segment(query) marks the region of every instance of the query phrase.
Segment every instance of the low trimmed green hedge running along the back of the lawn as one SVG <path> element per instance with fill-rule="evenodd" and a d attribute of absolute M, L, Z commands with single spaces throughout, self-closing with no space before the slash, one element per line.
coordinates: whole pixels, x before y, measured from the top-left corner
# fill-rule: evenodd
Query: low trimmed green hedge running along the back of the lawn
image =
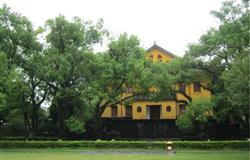
<path fill-rule="evenodd" d="M 164 148 L 164 141 L 1 141 L 2 148 Z M 177 149 L 249 149 L 249 141 L 173 141 Z"/>

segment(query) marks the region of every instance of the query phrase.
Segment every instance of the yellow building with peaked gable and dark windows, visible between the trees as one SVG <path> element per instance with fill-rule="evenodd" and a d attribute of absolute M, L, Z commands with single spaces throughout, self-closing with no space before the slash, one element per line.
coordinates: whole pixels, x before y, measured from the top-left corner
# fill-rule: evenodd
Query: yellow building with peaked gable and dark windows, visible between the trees
<path fill-rule="evenodd" d="M 162 61 L 168 63 L 176 56 L 162 47 L 154 44 L 146 51 L 146 58 L 152 59 L 153 62 Z M 210 93 L 204 90 L 198 82 L 190 85 L 177 84 L 177 89 L 184 91 L 192 99 L 200 97 L 210 97 Z M 131 94 L 133 88 L 127 88 L 126 94 Z M 182 94 L 177 94 L 178 100 L 185 100 Z M 177 103 L 175 100 L 164 100 L 158 102 L 147 101 L 145 97 L 137 97 L 137 100 L 131 106 L 118 105 L 108 107 L 104 111 L 102 118 L 130 118 L 133 120 L 175 120 L 186 106 L 184 103 Z"/>

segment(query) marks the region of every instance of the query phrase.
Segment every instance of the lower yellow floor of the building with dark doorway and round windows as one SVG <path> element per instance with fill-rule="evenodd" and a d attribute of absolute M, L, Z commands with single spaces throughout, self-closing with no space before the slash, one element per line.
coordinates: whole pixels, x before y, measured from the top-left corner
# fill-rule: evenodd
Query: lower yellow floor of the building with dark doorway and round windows
<path fill-rule="evenodd" d="M 127 118 L 133 120 L 175 120 L 185 111 L 185 104 L 172 100 L 149 102 L 136 101 L 131 105 L 107 107 L 102 118 Z"/>

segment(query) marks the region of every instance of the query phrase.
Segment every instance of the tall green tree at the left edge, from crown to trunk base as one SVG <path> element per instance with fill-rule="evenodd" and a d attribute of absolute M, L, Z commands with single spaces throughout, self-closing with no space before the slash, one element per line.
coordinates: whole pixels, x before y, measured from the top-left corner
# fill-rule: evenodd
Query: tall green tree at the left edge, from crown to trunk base
<path fill-rule="evenodd" d="M 19 107 L 20 113 L 23 113 L 23 117 L 26 117 L 25 127 L 27 133 L 28 118 L 22 107 L 25 107 L 26 103 L 31 103 L 31 128 L 33 135 L 35 135 L 38 128 L 38 112 L 47 95 L 47 90 L 44 87 L 45 83 L 38 77 L 38 73 L 43 66 L 41 63 L 37 63 L 39 62 L 38 56 L 41 54 L 42 47 L 37 41 L 38 32 L 34 31 L 31 22 L 26 17 L 11 11 L 6 5 L 0 8 L 0 22 L 0 51 L 7 57 L 6 71 L 8 75 L 14 75 L 5 76 L 8 80 L 3 85 L 4 91 L 8 93 L 7 96 L 10 96 L 7 97 L 8 99 L 15 99 L 15 96 L 20 98 L 13 102 L 8 101 L 10 103 L 7 103 L 6 107 L 7 110 L 13 108 L 11 106 Z M 20 88 L 26 89 L 24 91 Z M 28 91 L 26 91 L 27 89 Z M 21 99 L 23 104 L 19 101 Z M 16 104 L 13 104 L 15 102 Z M 11 112 L 11 110 L 9 111 Z"/>

